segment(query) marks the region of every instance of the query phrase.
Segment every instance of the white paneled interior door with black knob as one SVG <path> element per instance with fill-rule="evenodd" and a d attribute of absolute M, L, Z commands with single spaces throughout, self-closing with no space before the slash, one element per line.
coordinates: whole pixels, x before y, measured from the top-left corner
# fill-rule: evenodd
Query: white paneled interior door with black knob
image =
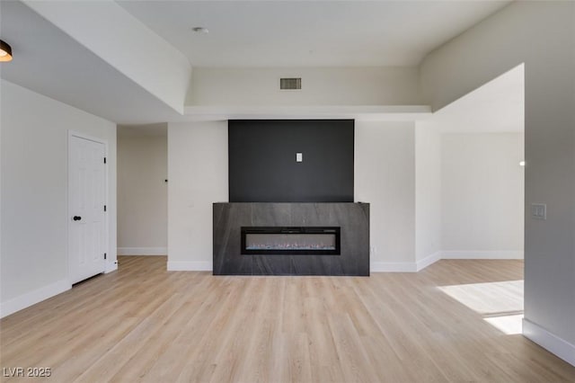
<path fill-rule="evenodd" d="M 68 254 L 72 283 L 105 271 L 105 164 L 102 142 L 70 135 Z"/>

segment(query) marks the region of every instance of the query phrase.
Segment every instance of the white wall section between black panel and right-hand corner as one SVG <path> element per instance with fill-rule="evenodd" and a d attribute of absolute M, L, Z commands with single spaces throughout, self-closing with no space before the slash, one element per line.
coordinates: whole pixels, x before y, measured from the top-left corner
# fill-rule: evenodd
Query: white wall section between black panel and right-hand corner
<path fill-rule="evenodd" d="M 371 270 L 415 271 L 413 122 L 356 121 L 355 200 L 370 203 Z"/>

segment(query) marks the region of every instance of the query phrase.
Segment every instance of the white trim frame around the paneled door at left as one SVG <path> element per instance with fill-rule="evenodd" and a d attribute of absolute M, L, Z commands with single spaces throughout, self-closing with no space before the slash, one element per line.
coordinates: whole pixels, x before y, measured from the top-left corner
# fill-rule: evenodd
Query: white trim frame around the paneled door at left
<path fill-rule="evenodd" d="M 72 138 L 83 138 L 83 139 L 87 139 L 89 141 L 93 141 L 93 142 L 97 142 L 99 144 L 102 144 L 104 146 L 104 156 L 106 157 L 106 159 L 108 159 L 108 140 L 104 139 L 104 138 L 99 138 L 99 137 L 93 137 L 90 135 L 87 135 L 83 132 L 77 131 L 77 130 L 72 130 L 72 129 L 68 129 L 68 134 L 67 134 L 67 142 L 66 142 L 66 262 L 67 262 L 67 269 L 68 269 L 68 281 L 70 281 L 70 284 L 73 280 L 73 275 L 72 275 L 72 254 L 70 252 L 70 231 L 71 231 L 71 226 L 72 226 L 72 220 L 70 219 L 70 217 L 72 217 L 72 211 L 70 211 L 70 174 L 71 172 L 71 167 L 72 167 L 72 161 L 71 161 L 71 156 L 72 156 L 72 151 L 70 150 L 71 147 L 71 143 L 72 143 Z M 108 161 L 106 161 L 108 162 Z M 109 180 L 108 180 L 108 166 L 104 165 L 104 205 L 106 205 L 106 207 L 109 207 L 109 203 L 108 201 L 110 200 L 110 190 L 108 187 L 109 184 Z M 106 261 L 104 263 L 104 273 L 106 272 L 111 272 L 112 270 L 110 269 L 110 258 L 111 258 L 111 252 L 110 252 L 110 215 L 109 215 L 110 209 L 107 209 L 105 215 L 104 215 L 104 248 L 106 249 L 106 253 L 108 254 L 108 256 L 106 257 Z M 113 269 L 115 270 L 115 269 Z"/>

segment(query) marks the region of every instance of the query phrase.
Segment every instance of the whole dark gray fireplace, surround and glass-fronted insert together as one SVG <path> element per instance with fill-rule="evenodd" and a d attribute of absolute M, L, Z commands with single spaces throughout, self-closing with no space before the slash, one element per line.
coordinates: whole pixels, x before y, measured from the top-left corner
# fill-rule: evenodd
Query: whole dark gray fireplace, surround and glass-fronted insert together
<path fill-rule="evenodd" d="M 213 212 L 214 275 L 369 275 L 368 203 L 217 202 Z"/>

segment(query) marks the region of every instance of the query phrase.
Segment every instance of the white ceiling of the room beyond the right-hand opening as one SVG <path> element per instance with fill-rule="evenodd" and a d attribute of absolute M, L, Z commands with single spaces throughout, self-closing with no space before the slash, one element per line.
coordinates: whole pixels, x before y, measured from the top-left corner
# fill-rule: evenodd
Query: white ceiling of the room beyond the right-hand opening
<path fill-rule="evenodd" d="M 524 66 L 482 85 L 430 119 L 444 133 L 521 132 L 525 129 Z"/>

